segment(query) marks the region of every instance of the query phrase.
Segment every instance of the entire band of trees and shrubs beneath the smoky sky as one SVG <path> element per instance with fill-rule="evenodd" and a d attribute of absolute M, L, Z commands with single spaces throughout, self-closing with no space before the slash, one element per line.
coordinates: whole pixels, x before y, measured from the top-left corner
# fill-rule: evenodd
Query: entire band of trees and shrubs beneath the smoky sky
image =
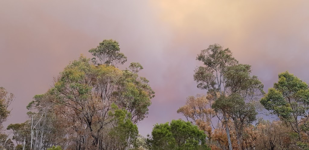
<path fill-rule="evenodd" d="M 177 110 L 186 121 L 157 123 L 144 138 L 137 124 L 147 117 L 155 92 L 139 76 L 143 66 L 132 62 L 119 69 L 127 57 L 112 39 L 89 52 L 92 59 L 82 55 L 70 62 L 46 93 L 33 97 L 28 120 L 8 125 L 8 134 L 2 124 L 14 95 L 0 87 L 0 149 L 309 149 L 309 88 L 288 71 L 265 94 L 250 65 L 239 64 L 229 48 L 210 45 L 197 55 L 203 66 L 193 76 L 207 92 L 189 96 Z M 258 118 L 261 105 L 279 119 Z"/>

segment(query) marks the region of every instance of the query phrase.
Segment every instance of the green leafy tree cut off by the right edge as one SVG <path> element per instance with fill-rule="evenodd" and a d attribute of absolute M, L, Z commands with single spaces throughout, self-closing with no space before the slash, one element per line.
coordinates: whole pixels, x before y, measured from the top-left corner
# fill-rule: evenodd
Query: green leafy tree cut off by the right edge
<path fill-rule="evenodd" d="M 302 141 L 300 125 L 308 120 L 308 85 L 288 71 L 279 73 L 278 79 L 260 102 L 266 110 L 290 123 Z"/>

